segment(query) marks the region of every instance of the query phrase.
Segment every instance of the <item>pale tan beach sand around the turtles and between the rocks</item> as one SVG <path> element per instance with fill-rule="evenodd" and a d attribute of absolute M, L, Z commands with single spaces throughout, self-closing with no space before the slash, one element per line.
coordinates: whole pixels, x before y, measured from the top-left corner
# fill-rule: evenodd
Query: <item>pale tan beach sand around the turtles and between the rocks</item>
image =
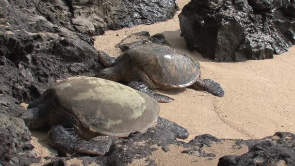
<path fill-rule="evenodd" d="M 189 1 L 178 0 L 180 8 Z M 148 31 L 151 35 L 163 33 L 172 47 L 196 58 L 201 64 L 202 77 L 220 83 L 226 92 L 224 97 L 189 88 L 158 91 L 175 99 L 170 103 L 160 103 L 160 116 L 185 127 L 190 133 L 187 140 L 205 133 L 236 139 L 261 139 L 276 132 L 295 133 L 295 47 L 275 55 L 274 59 L 214 63 L 202 58 L 197 51 L 187 50 L 183 37 L 180 37 L 178 14 L 180 11 L 166 22 L 108 31 L 96 37 L 95 48 L 118 56 L 120 50 L 114 47 L 117 43 L 131 33 Z M 167 153 L 155 151 L 150 158 L 159 166 L 183 163 L 216 166 L 222 155 L 240 155 L 247 151 L 245 147 L 232 149 L 230 141 L 224 144 L 225 147 L 216 146 L 209 151 L 218 157 L 213 161 L 204 159 L 207 163 L 180 153 L 178 147 L 170 147 L 171 151 Z M 147 163 L 142 159 L 131 165 Z"/>

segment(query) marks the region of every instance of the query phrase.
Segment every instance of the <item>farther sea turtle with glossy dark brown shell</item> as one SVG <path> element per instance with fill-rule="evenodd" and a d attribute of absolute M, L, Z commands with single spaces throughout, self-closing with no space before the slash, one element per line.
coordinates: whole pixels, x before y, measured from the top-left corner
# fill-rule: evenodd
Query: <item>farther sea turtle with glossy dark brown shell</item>
<path fill-rule="evenodd" d="M 206 90 L 215 96 L 225 94 L 219 83 L 201 79 L 199 62 L 169 46 L 142 44 L 126 50 L 117 58 L 99 50 L 98 60 L 107 67 L 98 72 L 98 78 L 128 83 L 158 102 L 170 102 L 174 99 L 157 94 L 151 89 L 189 86 Z"/>

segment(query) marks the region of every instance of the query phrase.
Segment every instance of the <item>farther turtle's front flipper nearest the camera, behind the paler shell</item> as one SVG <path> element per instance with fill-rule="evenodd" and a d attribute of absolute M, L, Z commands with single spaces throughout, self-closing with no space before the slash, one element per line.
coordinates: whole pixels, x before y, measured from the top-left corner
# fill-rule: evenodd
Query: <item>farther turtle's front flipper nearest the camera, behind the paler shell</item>
<path fill-rule="evenodd" d="M 148 95 L 149 97 L 157 100 L 158 102 L 171 102 L 174 100 L 173 98 L 152 91 L 144 82 L 132 81 L 128 83 L 128 86 Z"/>

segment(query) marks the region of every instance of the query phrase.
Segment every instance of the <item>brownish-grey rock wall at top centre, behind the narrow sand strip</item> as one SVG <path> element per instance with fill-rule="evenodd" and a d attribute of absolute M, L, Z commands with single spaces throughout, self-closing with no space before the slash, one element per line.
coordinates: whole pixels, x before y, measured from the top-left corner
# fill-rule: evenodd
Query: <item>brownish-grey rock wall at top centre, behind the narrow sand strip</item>
<path fill-rule="evenodd" d="M 66 0 L 72 23 L 81 33 L 97 35 L 139 24 L 152 24 L 174 17 L 176 0 Z"/>

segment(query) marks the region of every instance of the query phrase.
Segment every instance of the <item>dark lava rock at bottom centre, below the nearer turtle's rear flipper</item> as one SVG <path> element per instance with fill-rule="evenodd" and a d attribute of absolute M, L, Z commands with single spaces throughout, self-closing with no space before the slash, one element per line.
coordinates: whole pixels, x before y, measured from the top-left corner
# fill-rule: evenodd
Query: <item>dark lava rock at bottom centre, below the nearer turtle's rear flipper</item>
<path fill-rule="evenodd" d="M 127 139 L 120 139 L 110 147 L 101 158 L 100 165 L 126 166 L 135 159 L 141 159 L 151 155 L 152 151 L 170 144 L 179 144 L 173 133 L 168 130 L 149 128 L 146 133 L 131 133 Z"/>

